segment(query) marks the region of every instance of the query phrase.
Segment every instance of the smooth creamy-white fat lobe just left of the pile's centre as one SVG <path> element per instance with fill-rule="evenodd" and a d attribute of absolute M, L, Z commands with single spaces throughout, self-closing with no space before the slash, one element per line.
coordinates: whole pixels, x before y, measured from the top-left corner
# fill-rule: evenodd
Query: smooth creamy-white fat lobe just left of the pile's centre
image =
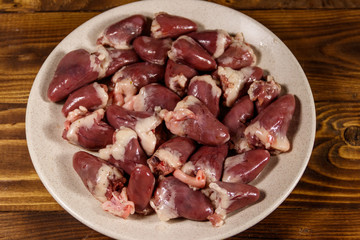
<path fill-rule="evenodd" d="M 156 135 L 153 132 L 162 120 L 157 115 L 139 119 L 135 125 L 135 132 L 140 138 L 140 144 L 146 154 L 151 156 L 155 151 Z"/>

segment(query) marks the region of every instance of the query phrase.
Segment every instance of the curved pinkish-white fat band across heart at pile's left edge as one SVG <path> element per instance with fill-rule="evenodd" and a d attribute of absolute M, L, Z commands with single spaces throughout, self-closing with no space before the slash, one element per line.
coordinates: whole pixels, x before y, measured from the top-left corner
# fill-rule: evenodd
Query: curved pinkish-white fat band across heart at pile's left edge
<path fill-rule="evenodd" d="M 100 120 L 104 117 L 104 114 L 105 114 L 104 109 L 98 109 L 95 112 L 71 123 L 71 125 L 66 133 L 67 140 L 73 144 L 77 144 L 79 129 L 80 128 L 91 128 L 95 123 L 100 122 Z"/>

